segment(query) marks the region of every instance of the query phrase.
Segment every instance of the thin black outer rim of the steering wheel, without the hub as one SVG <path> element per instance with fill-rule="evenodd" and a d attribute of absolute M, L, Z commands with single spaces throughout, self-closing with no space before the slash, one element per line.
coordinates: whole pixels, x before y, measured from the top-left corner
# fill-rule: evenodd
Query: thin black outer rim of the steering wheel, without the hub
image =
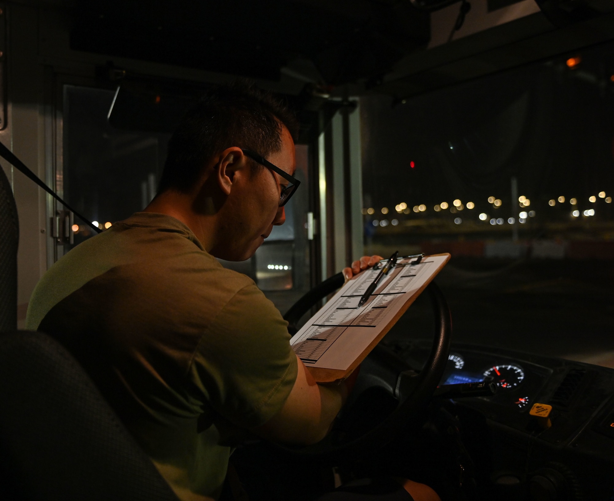
<path fill-rule="evenodd" d="M 284 319 L 288 320 L 290 324 L 289 330 L 290 328 L 293 330 L 291 333 L 297 332 L 295 325 L 309 308 L 341 287 L 343 283 L 343 274 L 338 273 L 301 297 L 284 316 Z M 283 449 L 293 455 L 321 457 L 327 460 L 357 457 L 387 445 L 395 437 L 398 437 L 398 433 L 407 429 L 408 422 L 413 421 L 412 417 L 426 408 L 441 380 L 448 362 L 452 337 L 451 314 L 443 293 L 435 282 L 430 282 L 426 291 L 429 293 L 435 313 L 435 338 L 429 357 L 420 373 L 413 376 L 402 372 L 397 376 L 395 392 L 407 393 L 406 395 L 398 395 L 401 398 L 397 408 L 372 430 L 346 443 L 335 443 L 335 437 L 332 437 L 329 433 L 327 437 L 314 445 L 300 448 L 282 446 Z M 409 379 L 410 384 L 403 384 L 404 379 L 405 381 Z M 403 386 L 405 386 L 404 389 Z"/>

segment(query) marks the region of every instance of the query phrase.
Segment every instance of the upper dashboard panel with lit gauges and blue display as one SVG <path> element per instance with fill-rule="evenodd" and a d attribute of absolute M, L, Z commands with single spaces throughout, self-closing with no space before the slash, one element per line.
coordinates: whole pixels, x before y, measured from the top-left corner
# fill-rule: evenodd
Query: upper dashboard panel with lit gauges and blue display
<path fill-rule="evenodd" d="M 453 346 L 441 384 L 492 381 L 492 397 L 459 399 L 486 419 L 554 446 L 614 460 L 614 370 L 507 350 Z M 552 406 L 550 426 L 529 414 Z"/>

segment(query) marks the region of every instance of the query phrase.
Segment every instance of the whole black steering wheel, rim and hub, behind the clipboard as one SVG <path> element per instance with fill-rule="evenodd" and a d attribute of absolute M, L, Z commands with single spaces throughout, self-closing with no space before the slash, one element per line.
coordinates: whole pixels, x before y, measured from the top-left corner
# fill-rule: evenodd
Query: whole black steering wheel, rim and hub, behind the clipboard
<path fill-rule="evenodd" d="M 343 274 L 338 273 L 301 297 L 284 315 L 289 322 L 289 332 L 296 333 L 295 326 L 303 314 L 343 284 Z M 376 346 L 363 360 L 356 386 L 332 431 L 314 445 L 283 449 L 305 458 L 352 459 L 374 452 L 421 425 L 419 415 L 441 380 L 452 336 L 450 311 L 441 290 L 430 282 L 426 292 L 435 313 L 435 338 L 422 370 L 414 371 L 390 349 Z M 374 398 L 378 409 L 387 411 L 387 415 L 365 422 L 362 417 L 369 404 L 373 410 Z"/>

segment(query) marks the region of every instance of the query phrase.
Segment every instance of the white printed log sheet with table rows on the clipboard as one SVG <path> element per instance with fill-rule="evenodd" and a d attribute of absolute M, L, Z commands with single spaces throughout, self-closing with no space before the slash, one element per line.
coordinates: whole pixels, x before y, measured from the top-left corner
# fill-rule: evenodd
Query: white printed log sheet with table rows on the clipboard
<path fill-rule="evenodd" d="M 416 258 L 399 260 L 360 308 L 360 297 L 379 269 L 357 274 L 292 337 L 292 348 L 308 367 L 346 370 L 394 325 L 400 311 L 405 311 L 448 258 L 449 254 L 426 256 L 420 263 Z"/>

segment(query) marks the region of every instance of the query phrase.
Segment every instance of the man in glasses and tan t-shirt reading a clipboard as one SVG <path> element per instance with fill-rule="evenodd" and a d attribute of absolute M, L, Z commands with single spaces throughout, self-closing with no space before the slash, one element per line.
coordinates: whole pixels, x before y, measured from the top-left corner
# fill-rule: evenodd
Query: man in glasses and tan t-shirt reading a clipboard
<path fill-rule="evenodd" d="M 152 203 L 61 258 L 28 308 L 28 328 L 76 356 L 184 501 L 219 496 L 233 430 L 315 443 L 349 391 L 316 384 L 279 311 L 216 260 L 246 260 L 284 223 L 295 130 L 265 93 L 212 90 L 169 142 Z"/>

